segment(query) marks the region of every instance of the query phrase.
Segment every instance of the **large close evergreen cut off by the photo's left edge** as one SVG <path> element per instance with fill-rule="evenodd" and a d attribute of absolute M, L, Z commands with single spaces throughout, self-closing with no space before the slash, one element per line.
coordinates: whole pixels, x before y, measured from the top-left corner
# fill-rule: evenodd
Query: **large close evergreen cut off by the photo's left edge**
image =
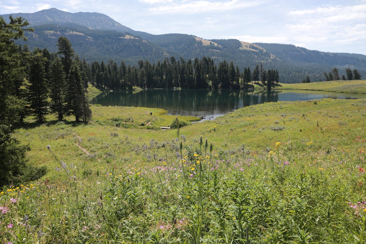
<path fill-rule="evenodd" d="M 34 168 L 27 164 L 26 152 L 29 146 L 22 145 L 11 136 L 11 124 L 24 108 L 18 98 L 11 95 L 15 80 L 24 77 L 25 65 L 22 54 L 14 40 L 26 40 L 24 31 L 29 23 L 21 17 L 0 16 L 0 187 L 17 185 L 22 181 L 37 179 L 45 174 L 45 167 Z"/>

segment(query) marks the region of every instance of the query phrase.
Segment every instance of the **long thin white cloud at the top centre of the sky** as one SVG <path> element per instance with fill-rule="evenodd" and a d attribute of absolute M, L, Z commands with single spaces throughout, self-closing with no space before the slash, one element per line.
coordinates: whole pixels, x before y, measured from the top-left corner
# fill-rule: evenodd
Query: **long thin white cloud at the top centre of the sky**
<path fill-rule="evenodd" d="M 197 14 L 200 12 L 228 11 L 238 8 L 253 7 L 261 4 L 261 1 L 221 1 L 210 2 L 205 0 L 189 1 L 180 4 L 169 4 L 156 8 L 149 8 L 154 14 Z"/>

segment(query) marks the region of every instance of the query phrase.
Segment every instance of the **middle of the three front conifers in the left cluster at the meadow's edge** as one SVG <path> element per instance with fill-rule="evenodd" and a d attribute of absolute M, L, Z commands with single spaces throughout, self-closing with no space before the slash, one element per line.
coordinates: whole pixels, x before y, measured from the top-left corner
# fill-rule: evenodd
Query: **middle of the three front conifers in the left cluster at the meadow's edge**
<path fill-rule="evenodd" d="M 60 58 L 53 60 L 50 71 L 50 109 L 57 114 L 57 119 L 62 121 L 66 112 L 66 74 Z"/>

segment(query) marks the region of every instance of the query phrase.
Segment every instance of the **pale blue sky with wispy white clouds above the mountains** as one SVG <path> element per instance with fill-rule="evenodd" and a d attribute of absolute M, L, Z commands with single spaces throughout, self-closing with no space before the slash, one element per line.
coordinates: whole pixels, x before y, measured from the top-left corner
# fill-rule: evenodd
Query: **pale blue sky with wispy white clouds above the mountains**
<path fill-rule="evenodd" d="M 294 44 L 366 55 L 366 0 L 0 0 L 0 14 L 99 12 L 152 34 Z"/>

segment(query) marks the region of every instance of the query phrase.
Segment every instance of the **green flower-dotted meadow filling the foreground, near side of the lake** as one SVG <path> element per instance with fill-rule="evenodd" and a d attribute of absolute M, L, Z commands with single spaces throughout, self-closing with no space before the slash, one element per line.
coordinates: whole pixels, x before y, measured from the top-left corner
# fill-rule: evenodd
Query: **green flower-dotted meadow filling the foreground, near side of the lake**
<path fill-rule="evenodd" d="M 366 100 L 179 116 L 179 130 L 160 129 L 176 118 L 163 109 L 91 109 L 88 125 L 15 130 L 48 173 L 0 191 L 4 243 L 366 242 Z"/>

